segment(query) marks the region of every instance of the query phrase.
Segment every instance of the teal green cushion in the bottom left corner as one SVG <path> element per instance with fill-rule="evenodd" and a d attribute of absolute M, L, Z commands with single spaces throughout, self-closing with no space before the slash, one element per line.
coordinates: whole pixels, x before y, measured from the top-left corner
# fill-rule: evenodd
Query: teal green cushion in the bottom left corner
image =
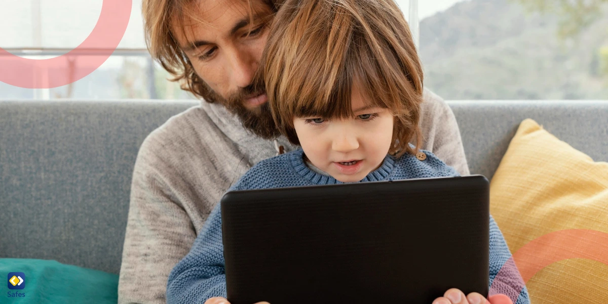
<path fill-rule="evenodd" d="M 23 289 L 9 289 L 9 272 L 23 272 Z M 89 303 L 118 301 L 118 275 L 54 260 L 0 258 L 1 303 Z M 21 297 L 10 297 L 19 292 Z"/>

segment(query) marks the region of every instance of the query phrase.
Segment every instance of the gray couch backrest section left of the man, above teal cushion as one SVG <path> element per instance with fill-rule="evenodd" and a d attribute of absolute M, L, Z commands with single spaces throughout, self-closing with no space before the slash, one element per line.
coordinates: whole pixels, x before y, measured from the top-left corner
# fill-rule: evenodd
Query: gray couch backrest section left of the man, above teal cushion
<path fill-rule="evenodd" d="M 137 150 L 196 104 L 0 102 L 0 257 L 117 274 Z"/>

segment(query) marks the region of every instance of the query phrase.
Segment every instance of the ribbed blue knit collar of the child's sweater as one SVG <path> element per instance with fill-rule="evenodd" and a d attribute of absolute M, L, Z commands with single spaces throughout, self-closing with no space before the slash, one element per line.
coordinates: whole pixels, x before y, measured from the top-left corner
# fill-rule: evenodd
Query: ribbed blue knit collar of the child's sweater
<path fill-rule="evenodd" d="M 306 178 L 306 180 L 311 181 L 313 184 L 343 184 L 342 181 L 336 180 L 336 178 L 332 177 L 331 175 L 322 175 L 311 170 L 308 166 L 306 166 L 303 156 L 304 151 L 302 149 L 294 150 L 289 154 L 289 161 L 294 167 L 295 172 L 297 172 L 303 178 Z M 393 172 L 394 167 L 395 159 L 390 155 L 387 155 L 384 158 L 384 161 L 382 161 L 382 166 L 375 171 L 371 171 L 370 174 L 359 182 L 385 180 Z"/>

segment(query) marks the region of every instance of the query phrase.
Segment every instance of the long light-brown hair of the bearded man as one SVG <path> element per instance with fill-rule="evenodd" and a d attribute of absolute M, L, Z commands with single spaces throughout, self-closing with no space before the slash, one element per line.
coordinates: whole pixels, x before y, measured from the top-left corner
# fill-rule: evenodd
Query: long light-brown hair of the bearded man
<path fill-rule="evenodd" d="M 194 9 L 199 1 L 205 0 L 143 0 L 142 15 L 146 46 L 154 60 L 159 62 L 167 72 L 173 75 L 171 81 L 179 81 L 181 88 L 195 96 L 205 98 L 212 103 L 215 101 L 209 86 L 196 74 L 196 71 L 182 52 L 173 32 L 173 25 L 182 30 L 185 36 L 187 21 L 205 23 Z M 230 0 L 229 0 L 230 1 Z M 252 1 L 260 1 L 268 5 L 274 12 L 283 0 L 232 0 L 244 1 L 249 4 L 250 18 L 254 16 Z"/>

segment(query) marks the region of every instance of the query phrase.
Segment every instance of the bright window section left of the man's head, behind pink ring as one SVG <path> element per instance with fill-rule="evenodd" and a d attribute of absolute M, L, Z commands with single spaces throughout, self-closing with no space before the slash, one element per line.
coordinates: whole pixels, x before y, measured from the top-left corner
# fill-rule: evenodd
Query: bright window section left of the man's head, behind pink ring
<path fill-rule="evenodd" d="M 0 32 L 0 46 L 29 59 L 63 55 L 85 41 L 97 23 L 102 4 L 103 0 L 0 0 L 0 28 L 4 29 Z M 67 61 L 68 58 L 66 66 Z M 71 67 L 78 68 L 78 61 L 72 62 Z M 148 54 L 141 0 L 133 0 L 123 39 L 97 70 L 75 83 L 53 89 L 23 89 L 0 82 L 0 98 L 192 98 L 167 78 L 170 75 Z"/>

